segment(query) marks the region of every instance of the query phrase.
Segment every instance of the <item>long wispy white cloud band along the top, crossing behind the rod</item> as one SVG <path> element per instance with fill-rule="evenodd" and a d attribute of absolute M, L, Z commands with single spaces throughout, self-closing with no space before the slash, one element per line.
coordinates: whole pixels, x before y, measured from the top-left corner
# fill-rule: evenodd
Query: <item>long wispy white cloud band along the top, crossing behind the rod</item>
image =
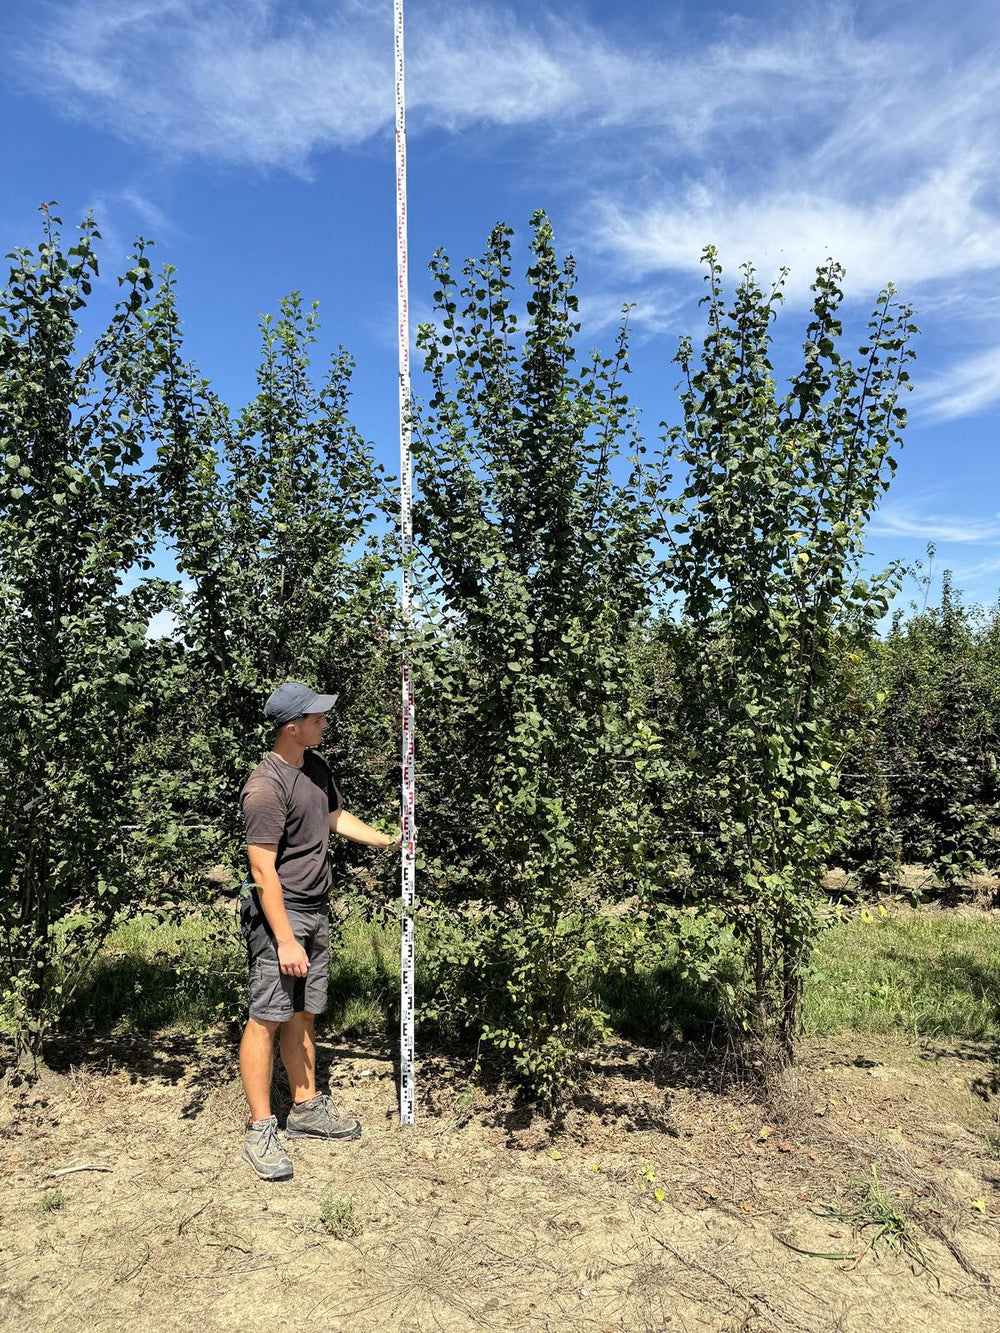
<path fill-rule="evenodd" d="M 771 29 L 731 20 L 715 40 L 627 47 L 565 5 L 428 0 L 412 7 L 407 40 L 417 127 L 548 121 L 572 141 L 621 128 L 657 163 L 724 141 L 739 156 L 749 137 L 780 140 L 804 119 L 829 136 L 888 59 L 836 4 Z M 33 91 L 181 156 L 301 168 L 392 120 L 388 4 L 61 0 L 20 55 Z"/>

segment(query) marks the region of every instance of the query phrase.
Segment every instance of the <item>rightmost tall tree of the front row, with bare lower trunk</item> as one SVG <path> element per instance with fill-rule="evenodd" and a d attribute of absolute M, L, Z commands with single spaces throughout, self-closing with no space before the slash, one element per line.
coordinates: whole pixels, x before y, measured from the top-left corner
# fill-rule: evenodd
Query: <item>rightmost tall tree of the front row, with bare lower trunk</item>
<path fill-rule="evenodd" d="M 896 467 L 915 327 L 888 288 L 859 359 L 844 356 L 831 261 L 781 393 L 771 344 L 783 279 L 767 293 L 747 267 L 727 303 L 711 248 L 705 265 L 708 332 L 700 359 L 689 340 L 677 353 L 683 421 L 665 441 L 683 491 L 664 497 L 663 580 L 692 631 L 677 640 L 692 738 L 673 818 L 696 830 L 679 832 L 688 893 L 732 929 L 745 964 L 735 1032 L 791 1058 L 821 873 L 860 813 L 839 789 L 852 730 L 840 668 L 896 579 L 865 579 L 861 560 Z"/>

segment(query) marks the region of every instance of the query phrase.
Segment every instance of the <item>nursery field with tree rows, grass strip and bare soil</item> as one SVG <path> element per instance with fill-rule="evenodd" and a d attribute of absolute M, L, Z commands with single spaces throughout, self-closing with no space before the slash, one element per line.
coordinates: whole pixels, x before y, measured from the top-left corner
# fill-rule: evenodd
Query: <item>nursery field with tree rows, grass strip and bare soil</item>
<path fill-rule="evenodd" d="M 1000 608 L 933 545 L 871 568 L 907 300 L 859 323 L 831 259 L 777 335 L 784 277 L 709 245 L 639 413 L 543 211 L 439 248 L 403 555 L 315 305 L 228 403 L 172 267 L 137 243 L 84 320 L 96 223 L 41 213 L 0 292 L 0 1326 L 999 1330 Z M 364 1136 L 268 1186 L 237 794 L 308 681 L 395 837 L 404 653 L 417 1125 L 399 864 L 335 837 Z"/>

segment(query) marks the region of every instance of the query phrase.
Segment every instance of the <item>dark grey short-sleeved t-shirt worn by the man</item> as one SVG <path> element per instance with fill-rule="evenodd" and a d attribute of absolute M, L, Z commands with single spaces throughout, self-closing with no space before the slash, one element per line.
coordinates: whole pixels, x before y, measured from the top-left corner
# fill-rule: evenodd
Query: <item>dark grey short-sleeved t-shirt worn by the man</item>
<path fill-rule="evenodd" d="M 285 906 L 317 908 L 328 901 L 329 816 L 340 796 L 325 760 L 312 750 L 303 766 L 267 754 L 240 792 L 247 842 L 276 842 L 275 866 Z"/>

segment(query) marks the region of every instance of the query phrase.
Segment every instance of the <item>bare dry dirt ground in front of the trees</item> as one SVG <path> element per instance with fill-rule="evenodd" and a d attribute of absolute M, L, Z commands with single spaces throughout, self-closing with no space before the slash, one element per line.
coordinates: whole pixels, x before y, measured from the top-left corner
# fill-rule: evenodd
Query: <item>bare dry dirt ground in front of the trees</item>
<path fill-rule="evenodd" d="M 809 1041 L 761 1104 L 691 1050 L 617 1045 L 559 1125 L 433 1057 L 412 1130 L 384 1048 L 320 1057 L 364 1137 L 291 1145 L 269 1185 L 225 1045 L 67 1046 L 8 1080 L 0 1326 L 1000 1330 L 996 1050 Z M 80 1164 L 111 1170 L 53 1174 Z"/>

